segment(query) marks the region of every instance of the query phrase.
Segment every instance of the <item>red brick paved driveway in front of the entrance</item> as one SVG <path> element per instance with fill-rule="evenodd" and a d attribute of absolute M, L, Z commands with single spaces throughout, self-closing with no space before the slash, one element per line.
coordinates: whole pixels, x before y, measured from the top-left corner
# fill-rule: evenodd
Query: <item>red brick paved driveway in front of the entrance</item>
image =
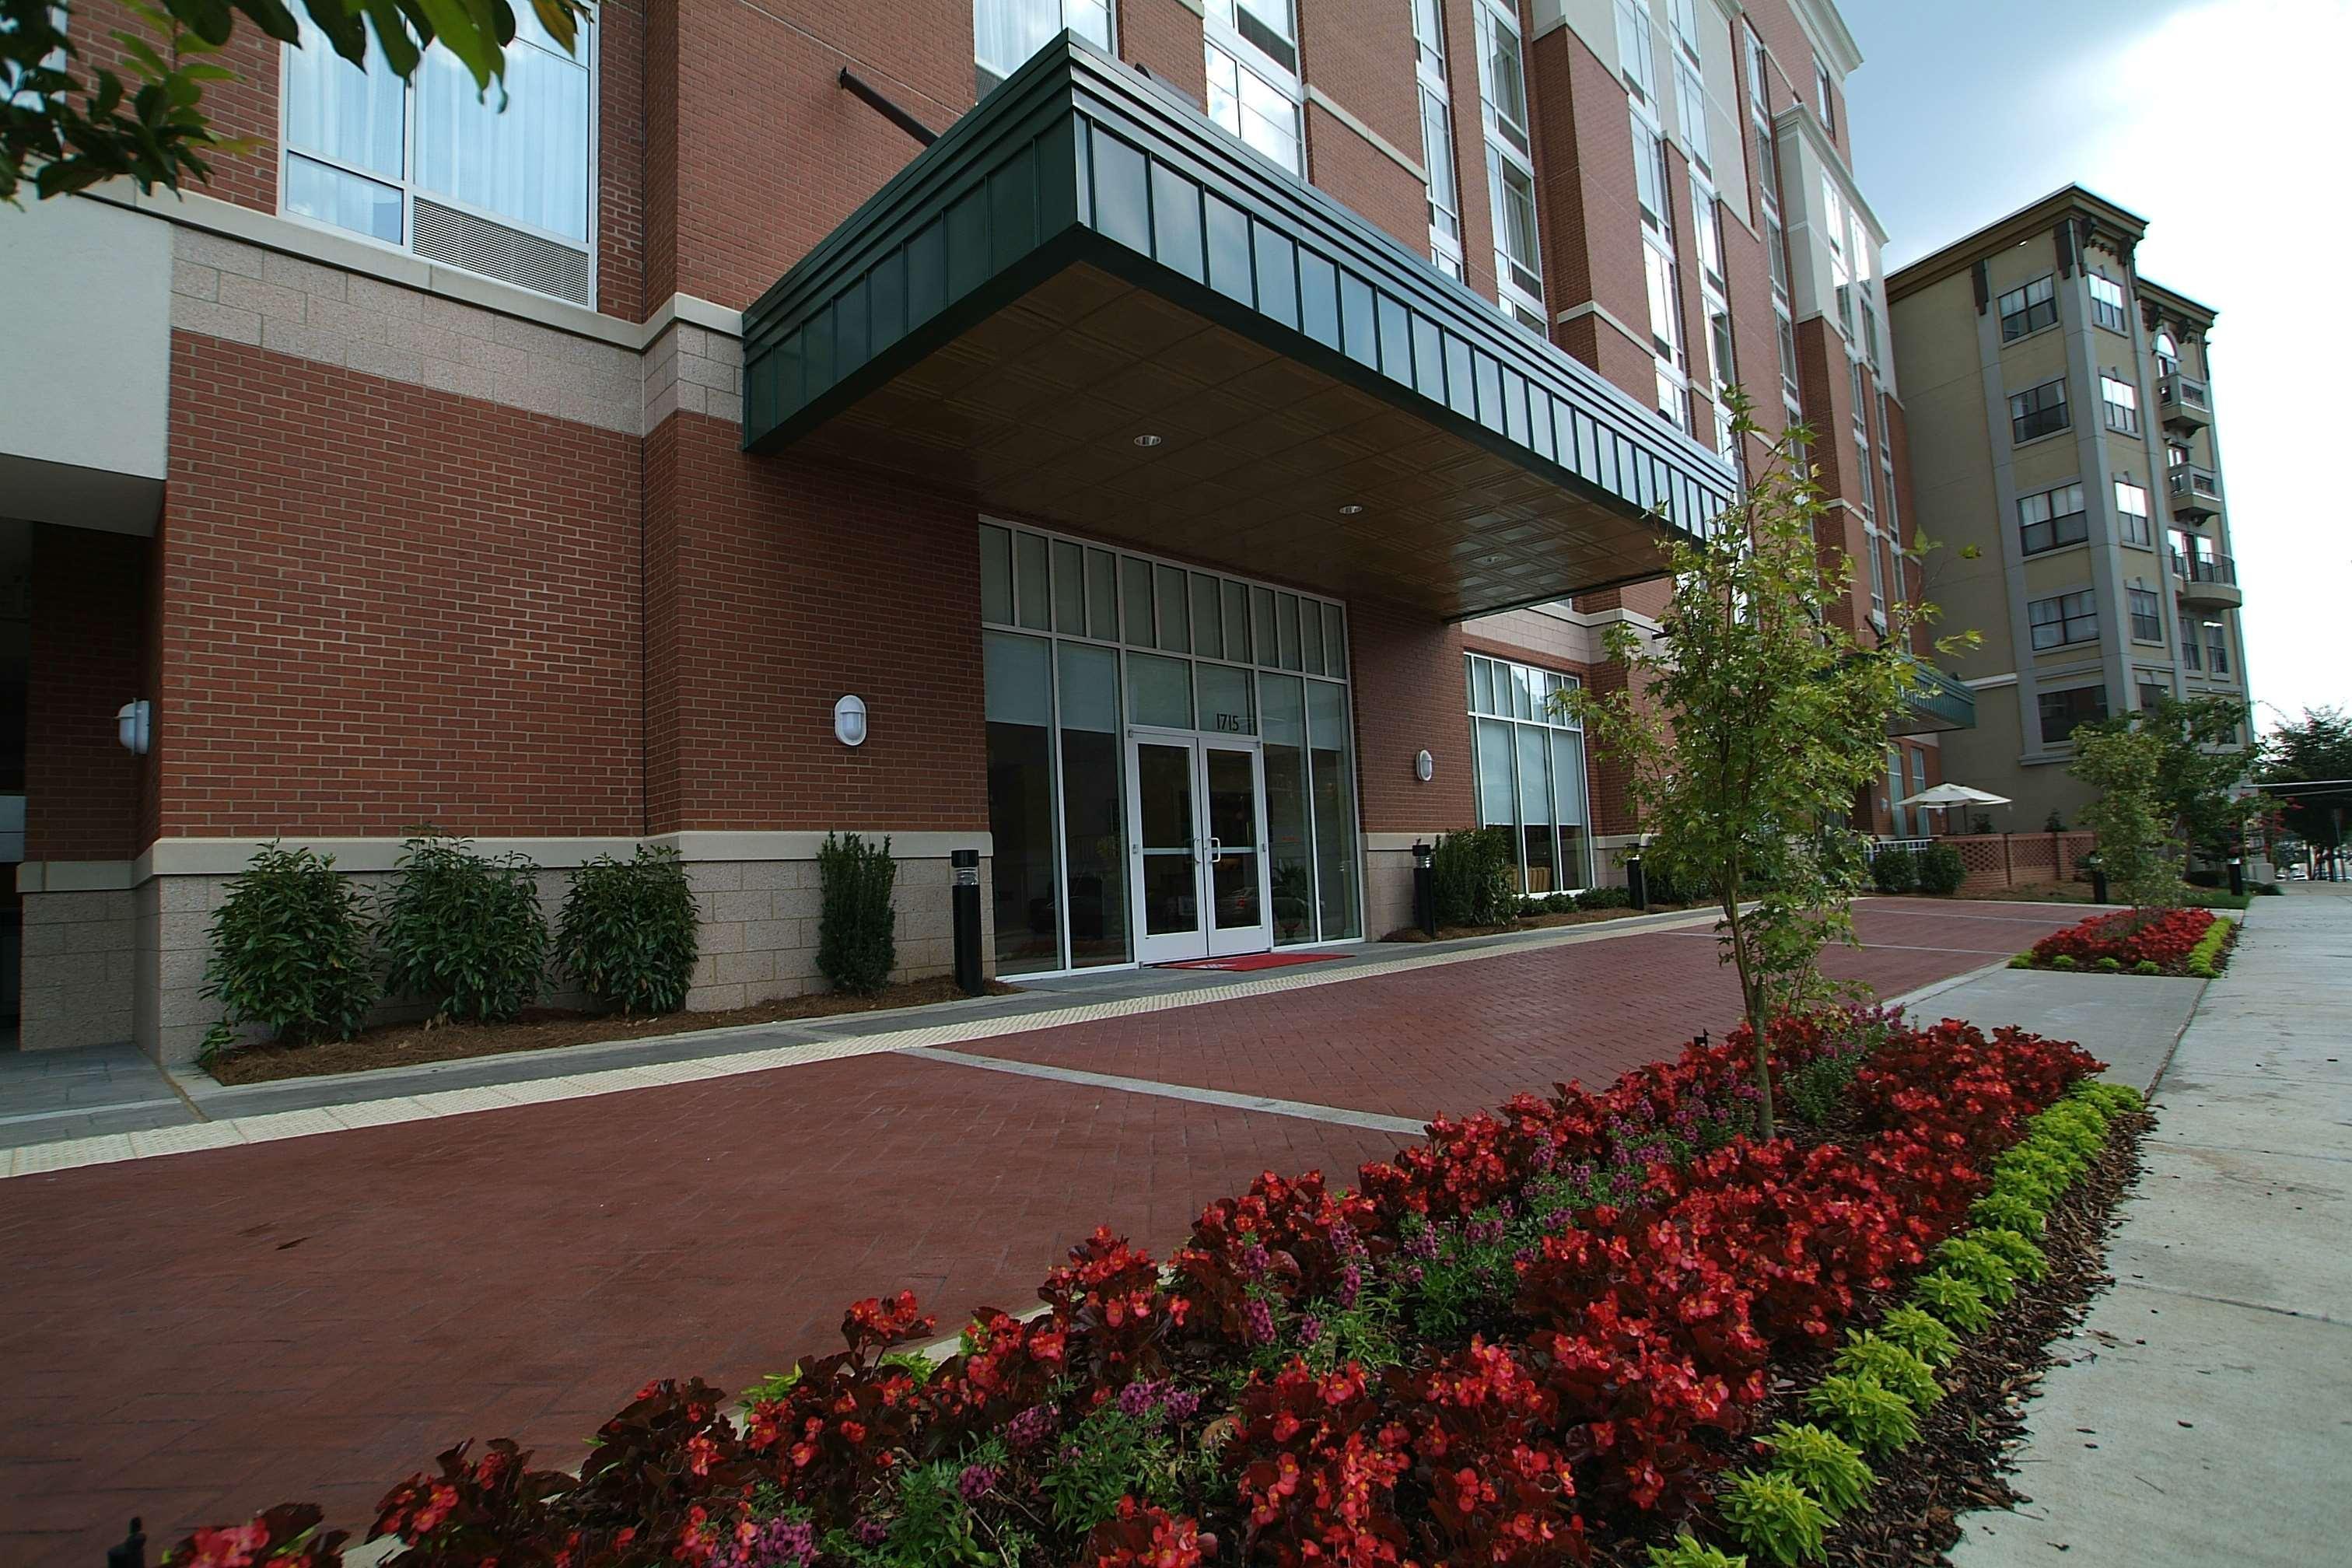
<path fill-rule="evenodd" d="M 2056 912 L 1863 905 L 1893 994 Z M 1708 936 L 1651 931 L 1040 1030 L 976 1053 L 1428 1117 L 1722 1030 Z M 1178 1239 L 1261 1168 L 1397 1138 L 866 1056 L 0 1182 L 0 1563 L 92 1563 L 285 1497 L 362 1528 L 461 1436 L 574 1462 L 656 1373 L 722 1387 L 917 1291 L 1021 1307 L 1096 1222 Z"/>

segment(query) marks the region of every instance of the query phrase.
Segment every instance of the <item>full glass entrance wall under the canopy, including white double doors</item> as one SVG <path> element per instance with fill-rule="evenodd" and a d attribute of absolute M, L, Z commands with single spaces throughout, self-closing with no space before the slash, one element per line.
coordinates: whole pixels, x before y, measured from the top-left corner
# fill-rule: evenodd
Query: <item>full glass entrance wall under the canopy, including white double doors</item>
<path fill-rule="evenodd" d="M 997 973 L 1364 933 L 1341 604 L 983 522 L 981 623 Z"/>

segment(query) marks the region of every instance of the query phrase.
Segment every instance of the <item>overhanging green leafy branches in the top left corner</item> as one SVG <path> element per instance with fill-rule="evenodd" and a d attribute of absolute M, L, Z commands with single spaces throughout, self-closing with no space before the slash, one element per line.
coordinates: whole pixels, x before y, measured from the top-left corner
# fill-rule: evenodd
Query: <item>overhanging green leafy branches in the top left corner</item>
<path fill-rule="evenodd" d="M 564 49 L 576 47 L 593 0 L 527 0 Z M 139 31 L 115 31 L 120 61 L 94 61 L 89 31 L 71 28 L 75 0 L 0 0 L 0 202 L 87 190 L 129 179 L 141 193 L 212 179 L 214 155 L 249 150 L 214 132 L 205 92 L 238 80 L 219 61 L 238 24 L 301 45 L 294 5 L 329 47 L 365 63 L 374 47 L 402 78 L 440 45 L 489 92 L 506 80 L 515 42 L 508 0 L 125 0 Z"/>

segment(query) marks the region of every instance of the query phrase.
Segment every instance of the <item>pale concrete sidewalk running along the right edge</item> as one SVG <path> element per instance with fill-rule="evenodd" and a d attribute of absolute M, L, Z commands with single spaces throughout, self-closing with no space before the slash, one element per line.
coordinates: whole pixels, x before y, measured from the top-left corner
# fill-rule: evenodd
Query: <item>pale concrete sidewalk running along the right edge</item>
<path fill-rule="evenodd" d="M 2117 1286 L 2060 1342 L 2027 1420 L 2032 1502 L 1966 1516 L 1959 1568 L 2352 1561 L 2345 1058 L 2352 886 L 2288 884 L 2253 903 L 2161 1065 L 2147 1171 L 2107 1258 Z"/>

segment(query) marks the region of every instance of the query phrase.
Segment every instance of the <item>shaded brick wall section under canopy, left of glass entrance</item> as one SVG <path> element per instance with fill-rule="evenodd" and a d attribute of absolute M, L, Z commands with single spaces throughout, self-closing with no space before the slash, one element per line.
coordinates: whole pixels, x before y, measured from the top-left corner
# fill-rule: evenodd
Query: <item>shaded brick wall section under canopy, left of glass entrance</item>
<path fill-rule="evenodd" d="M 701 414 L 647 440 L 652 830 L 985 830 L 971 508 L 736 440 Z"/>

